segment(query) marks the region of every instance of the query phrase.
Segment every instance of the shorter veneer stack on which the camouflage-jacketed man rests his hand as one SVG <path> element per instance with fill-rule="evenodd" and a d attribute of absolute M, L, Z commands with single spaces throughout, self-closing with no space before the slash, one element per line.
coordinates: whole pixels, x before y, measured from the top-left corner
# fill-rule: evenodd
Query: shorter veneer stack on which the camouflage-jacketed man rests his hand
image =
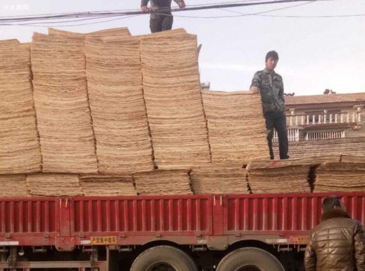
<path fill-rule="evenodd" d="M 212 163 L 269 158 L 260 95 L 203 91 Z"/>

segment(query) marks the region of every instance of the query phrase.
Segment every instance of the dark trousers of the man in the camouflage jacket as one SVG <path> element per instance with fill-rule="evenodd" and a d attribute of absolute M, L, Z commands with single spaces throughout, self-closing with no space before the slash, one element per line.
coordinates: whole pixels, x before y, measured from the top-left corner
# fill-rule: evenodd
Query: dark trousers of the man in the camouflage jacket
<path fill-rule="evenodd" d="M 264 114 L 266 119 L 267 141 L 270 151 L 270 159 L 274 158 L 272 151 L 273 129 L 278 133 L 280 159 L 288 159 L 288 132 L 286 130 L 286 116 L 284 112 L 268 112 Z"/>

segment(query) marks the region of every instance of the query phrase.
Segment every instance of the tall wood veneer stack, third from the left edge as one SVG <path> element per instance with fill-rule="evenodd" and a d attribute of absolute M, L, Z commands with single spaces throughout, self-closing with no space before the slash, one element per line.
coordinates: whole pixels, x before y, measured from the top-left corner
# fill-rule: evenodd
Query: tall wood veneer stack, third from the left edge
<path fill-rule="evenodd" d="M 99 171 L 153 170 L 139 40 L 104 43 L 86 38 L 85 53 Z"/>

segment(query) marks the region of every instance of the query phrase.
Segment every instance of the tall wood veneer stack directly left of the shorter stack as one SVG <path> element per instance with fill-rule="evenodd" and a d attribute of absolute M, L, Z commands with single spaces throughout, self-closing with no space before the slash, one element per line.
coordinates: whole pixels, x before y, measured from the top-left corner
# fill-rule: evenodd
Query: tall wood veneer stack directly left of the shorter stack
<path fill-rule="evenodd" d="M 155 162 L 211 162 L 195 35 L 141 40 L 144 99 Z"/>

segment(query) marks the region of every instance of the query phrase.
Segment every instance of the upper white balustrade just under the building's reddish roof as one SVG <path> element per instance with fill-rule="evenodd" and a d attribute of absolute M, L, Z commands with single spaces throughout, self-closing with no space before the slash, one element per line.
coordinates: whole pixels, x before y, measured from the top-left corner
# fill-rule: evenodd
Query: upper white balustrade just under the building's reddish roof
<path fill-rule="evenodd" d="M 356 112 L 347 114 L 287 116 L 286 122 L 288 123 L 289 126 L 327 124 L 327 123 L 351 123 L 351 122 L 360 123 L 361 114 Z"/>

